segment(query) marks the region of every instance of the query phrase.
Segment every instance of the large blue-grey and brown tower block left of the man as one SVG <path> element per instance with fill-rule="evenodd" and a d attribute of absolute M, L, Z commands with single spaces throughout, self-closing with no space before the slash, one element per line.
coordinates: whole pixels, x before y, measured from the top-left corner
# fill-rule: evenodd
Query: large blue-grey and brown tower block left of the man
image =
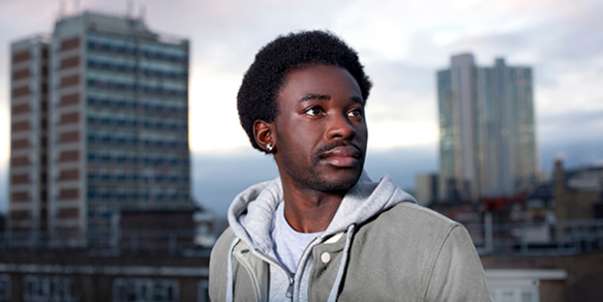
<path fill-rule="evenodd" d="M 12 51 L 11 225 L 80 240 L 124 208 L 192 208 L 188 40 L 83 12 Z"/>

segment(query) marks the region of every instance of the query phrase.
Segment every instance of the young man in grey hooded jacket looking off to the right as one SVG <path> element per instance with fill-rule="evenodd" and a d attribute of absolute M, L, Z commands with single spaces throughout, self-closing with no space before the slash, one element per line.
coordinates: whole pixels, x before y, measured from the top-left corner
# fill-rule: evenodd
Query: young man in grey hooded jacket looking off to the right
<path fill-rule="evenodd" d="M 489 301 L 467 231 L 363 173 L 371 82 L 321 31 L 262 48 L 241 124 L 280 177 L 233 201 L 211 254 L 212 301 Z"/>

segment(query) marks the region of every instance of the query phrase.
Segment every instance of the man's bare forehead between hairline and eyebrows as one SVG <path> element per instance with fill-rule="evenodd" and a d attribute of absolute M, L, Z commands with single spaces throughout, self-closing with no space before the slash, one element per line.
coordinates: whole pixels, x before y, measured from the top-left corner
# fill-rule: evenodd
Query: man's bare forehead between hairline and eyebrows
<path fill-rule="evenodd" d="M 346 99 L 361 97 L 354 77 L 346 69 L 334 65 L 309 65 L 287 72 L 277 99 L 299 99 L 306 94 Z"/>

